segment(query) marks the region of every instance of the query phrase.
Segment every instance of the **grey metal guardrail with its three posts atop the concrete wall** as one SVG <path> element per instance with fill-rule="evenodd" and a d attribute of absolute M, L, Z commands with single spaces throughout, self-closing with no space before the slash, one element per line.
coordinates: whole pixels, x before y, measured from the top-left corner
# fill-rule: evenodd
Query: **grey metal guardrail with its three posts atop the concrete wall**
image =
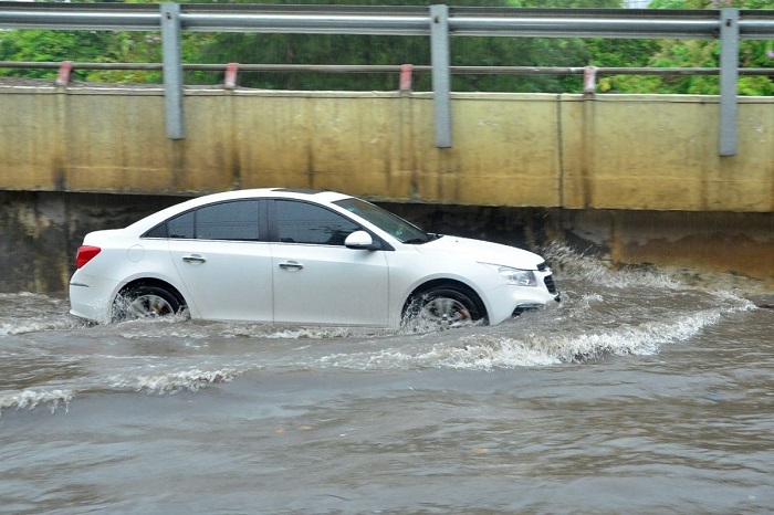
<path fill-rule="evenodd" d="M 718 39 L 721 156 L 736 154 L 739 40 L 774 39 L 774 10 L 0 2 L 0 29 L 160 31 L 167 137 L 185 138 L 181 31 L 427 35 L 436 145 L 451 147 L 450 36 Z"/>

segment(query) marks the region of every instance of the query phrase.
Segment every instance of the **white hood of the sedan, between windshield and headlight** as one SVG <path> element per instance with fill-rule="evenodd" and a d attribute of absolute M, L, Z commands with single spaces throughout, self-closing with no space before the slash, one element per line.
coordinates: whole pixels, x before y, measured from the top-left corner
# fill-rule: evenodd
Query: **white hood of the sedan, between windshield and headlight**
<path fill-rule="evenodd" d="M 530 251 L 470 238 L 441 237 L 438 240 L 416 245 L 416 249 L 422 254 L 466 256 L 481 263 L 513 266 L 521 270 L 537 270 L 537 265 L 545 261 Z"/>

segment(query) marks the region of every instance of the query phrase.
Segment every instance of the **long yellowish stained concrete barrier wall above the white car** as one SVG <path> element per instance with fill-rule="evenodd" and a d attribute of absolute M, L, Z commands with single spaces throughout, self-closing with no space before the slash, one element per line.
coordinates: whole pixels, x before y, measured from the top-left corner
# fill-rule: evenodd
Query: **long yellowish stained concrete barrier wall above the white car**
<path fill-rule="evenodd" d="M 261 186 L 388 201 L 774 211 L 774 97 L 741 98 L 718 156 L 717 97 L 189 90 L 187 138 L 160 88 L 0 86 L 0 189 L 186 195 Z"/>

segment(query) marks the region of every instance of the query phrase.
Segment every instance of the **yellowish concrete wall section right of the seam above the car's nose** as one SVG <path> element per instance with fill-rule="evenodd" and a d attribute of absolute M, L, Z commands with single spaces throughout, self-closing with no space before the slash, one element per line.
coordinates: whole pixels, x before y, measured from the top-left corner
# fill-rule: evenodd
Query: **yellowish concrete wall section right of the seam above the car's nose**
<path fill-rule="evenodd" d="M 563 207 L 774 211 L 774 97 L 740 98 L 733 157 L 718 155 L 717 97 L 611 95 L 568 105 L 563 134 L 583 137 L 563 138 Z"/>

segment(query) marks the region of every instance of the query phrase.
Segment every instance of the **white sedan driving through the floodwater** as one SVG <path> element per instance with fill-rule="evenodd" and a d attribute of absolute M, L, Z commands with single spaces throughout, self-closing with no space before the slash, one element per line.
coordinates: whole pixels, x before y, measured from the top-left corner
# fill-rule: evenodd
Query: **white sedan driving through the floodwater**
<path fill-rule="evenodd" d="M 499 324 L 559 301 L 545 261 L 427 233 L 332 191 L 199 197 L 86 234 L 71 313 L 97 323 L 191 318 L 400 328 Z"/>

